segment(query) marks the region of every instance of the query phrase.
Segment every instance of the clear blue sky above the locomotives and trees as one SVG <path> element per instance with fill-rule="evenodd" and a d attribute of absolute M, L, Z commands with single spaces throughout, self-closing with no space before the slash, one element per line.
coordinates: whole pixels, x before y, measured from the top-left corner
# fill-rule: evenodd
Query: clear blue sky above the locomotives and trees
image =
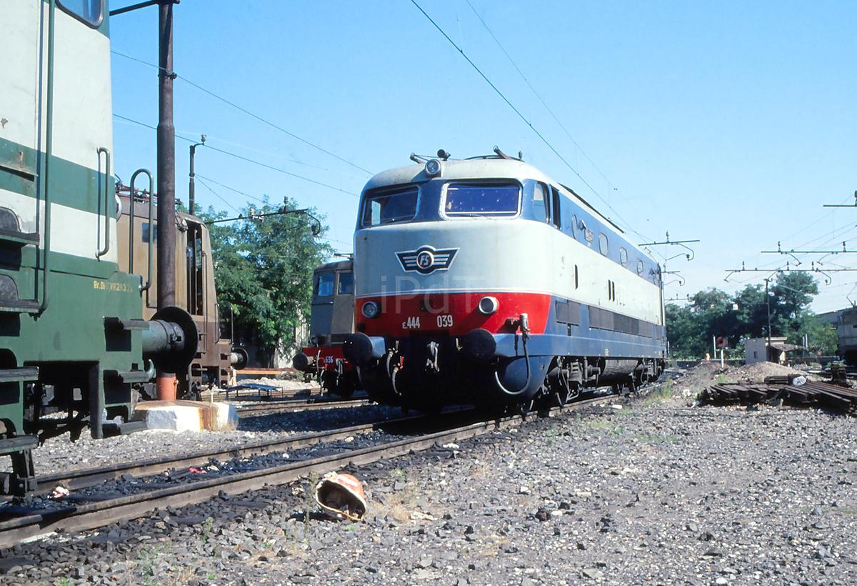
<path fill-rule="evenodd" d="M 691 263 L 667 263 L 686 279 L 684 287 L 669 284 L 668 297 L 761 282 L 764 274 L 723 277 L 742 261 L 784 264 L 759 254 L 777 241 L 834 250 L 854 239 L 848 248 L 857 250 L 857 208 L 822 208 L 854 202 L 857 190 L 857 3 L 470 0 L 578 148 L 467 0 L 418 1 L 596 193 L 409 0 L 183 0 L 175 8 L 175 69 L 370 172 L 438 148 L 461 157 L 495 144 L 522 150 L 524 160 L 630 228 L 636 242 L 666 232 L 702 240 Z M 114 17 L 113 49 L 157 63 L 156 31 L 157 9 Z M 118 55 L 112 63 L 114 112 L 157 124 L 156 71 Z M 182 80 L 175 113 L 181 136 L 204 132 L 214 147 L 354 194 L 212 150 L 197 154 L 204 177 L 319 208 L 333 246 L 351 251 L 356 194 L 368 173 Z M 120 177 L 154 169 L 153 130 L 115 123 Z M 177 196 L 187 202 L 188 143 L 177 141 L 176 152 Z M 236 208 L 248 201 L 208 184 Z M 196 193 L 205 206 L 229 209 L 202 185 Z M 800 268 L 813 258 L 801 256 Z M 822 262 L 857 268 L 857 254 Z M 817 311 L 848 305 L 857 283 L 857 272 L 831 276 Z"/>

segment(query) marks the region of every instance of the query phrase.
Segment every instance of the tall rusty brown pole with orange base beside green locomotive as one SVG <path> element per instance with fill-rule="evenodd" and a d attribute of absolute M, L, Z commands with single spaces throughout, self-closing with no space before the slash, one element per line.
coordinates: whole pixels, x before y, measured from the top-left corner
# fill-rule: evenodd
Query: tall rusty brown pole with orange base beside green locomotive
<path fill-rule="evenodd" d="M 158 3 L 158 309 L 176 305 L 176 127 L 172 121 L 172 5 Z M 159 399 L 176 398 L 176 373 L 158 372 Z"/>

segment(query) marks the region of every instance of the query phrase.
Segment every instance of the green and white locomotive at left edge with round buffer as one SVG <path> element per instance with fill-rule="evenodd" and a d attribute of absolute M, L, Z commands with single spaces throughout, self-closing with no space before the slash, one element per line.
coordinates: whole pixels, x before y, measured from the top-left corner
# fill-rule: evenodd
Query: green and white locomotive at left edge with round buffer
<path fill-rule="evenodd" d="M 4 0 L 0 23 L 0 488 L 25 492 L 40 441 L 127 431 L 132 385 L 198 335 L 175 307 L 143 319 L 118 265 L 106 0 Z"/>

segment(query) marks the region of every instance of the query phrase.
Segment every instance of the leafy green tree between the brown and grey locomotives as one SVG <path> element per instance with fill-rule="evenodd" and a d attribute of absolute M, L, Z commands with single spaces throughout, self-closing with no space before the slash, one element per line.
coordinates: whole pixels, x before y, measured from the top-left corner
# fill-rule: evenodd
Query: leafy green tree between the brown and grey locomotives
<path fill-rule="evenodd" d="M 289 200 L 273 206 L 266 199 L 261 207 L 244 206 L 241 220 L 209 224 L 221 322 L 228 324 L 232 315 L 236 337 L 257 341 L 263 363 L 309 322 L 313 270 L 333 254 L 318 239 L 327 227 L 315 220 L 315 210 L 287 213 L 296 209 Z M 230 217 L 213 208 L 200 215 L 207 221 Z"/>

